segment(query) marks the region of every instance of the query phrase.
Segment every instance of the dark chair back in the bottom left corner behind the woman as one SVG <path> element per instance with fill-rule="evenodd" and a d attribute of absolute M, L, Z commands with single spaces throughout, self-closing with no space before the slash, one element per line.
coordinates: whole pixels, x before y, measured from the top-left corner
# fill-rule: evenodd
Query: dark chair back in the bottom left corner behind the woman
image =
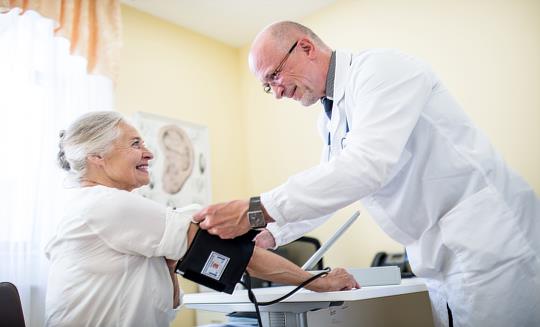
<path fill-rule="evenodd" d="M 0 327 L 25 327 L 19 292 L 8 282 L 0 283 Z"/>

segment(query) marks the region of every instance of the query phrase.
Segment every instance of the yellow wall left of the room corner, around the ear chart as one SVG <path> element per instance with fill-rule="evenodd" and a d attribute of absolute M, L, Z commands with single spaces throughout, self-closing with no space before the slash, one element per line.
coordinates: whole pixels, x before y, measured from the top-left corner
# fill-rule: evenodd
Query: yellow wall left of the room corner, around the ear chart
<path fill-rule="evenodd" d="M 209 128 L 212 200 L 245 197 L 244 123 L 238 50 L 122 6 L 124 24 L 117 109 L 190 121 Z M 187 292 L 195 286 L 181 280 Z M 175 326 L 194 326 L 182 309 Z"/>

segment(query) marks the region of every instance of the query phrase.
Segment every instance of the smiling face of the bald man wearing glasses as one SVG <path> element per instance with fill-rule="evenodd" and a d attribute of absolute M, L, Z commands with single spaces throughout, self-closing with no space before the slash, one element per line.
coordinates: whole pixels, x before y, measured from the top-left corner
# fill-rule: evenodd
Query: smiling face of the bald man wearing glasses
<path fill-rule="evenodd" d="M 288 51 L 268 43 L 254 46 L 249 66 L 265 92 L 310 106 L 324 96 L 326 87 L 325 77 L 311 57 L 313 47 L 307 39 L 292 43 Z"/>

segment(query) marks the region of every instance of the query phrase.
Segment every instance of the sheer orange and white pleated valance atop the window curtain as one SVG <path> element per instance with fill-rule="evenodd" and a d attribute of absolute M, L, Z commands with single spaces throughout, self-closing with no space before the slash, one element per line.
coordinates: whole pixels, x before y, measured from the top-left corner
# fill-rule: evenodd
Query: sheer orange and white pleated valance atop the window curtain
<path fill-rule="evenodd" d="M 88 73 L 116 80 L 122 27 L 118 0 L 0 0 L 0 12 L 15 7 L 53 19 L 55 35 L 69 40 L 71 54 L 86 58 Z"/>

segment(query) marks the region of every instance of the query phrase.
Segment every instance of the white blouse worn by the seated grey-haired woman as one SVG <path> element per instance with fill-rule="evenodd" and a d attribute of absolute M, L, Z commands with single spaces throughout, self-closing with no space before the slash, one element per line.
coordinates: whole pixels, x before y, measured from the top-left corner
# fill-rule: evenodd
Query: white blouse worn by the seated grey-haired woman
<path fill-rule="evenodd" d="M 73 189 L 45 248 L 46 325 L 169 326 L 176 311 L 165 258 L 184 255 L 198 209 L 105 186 Z"/>

